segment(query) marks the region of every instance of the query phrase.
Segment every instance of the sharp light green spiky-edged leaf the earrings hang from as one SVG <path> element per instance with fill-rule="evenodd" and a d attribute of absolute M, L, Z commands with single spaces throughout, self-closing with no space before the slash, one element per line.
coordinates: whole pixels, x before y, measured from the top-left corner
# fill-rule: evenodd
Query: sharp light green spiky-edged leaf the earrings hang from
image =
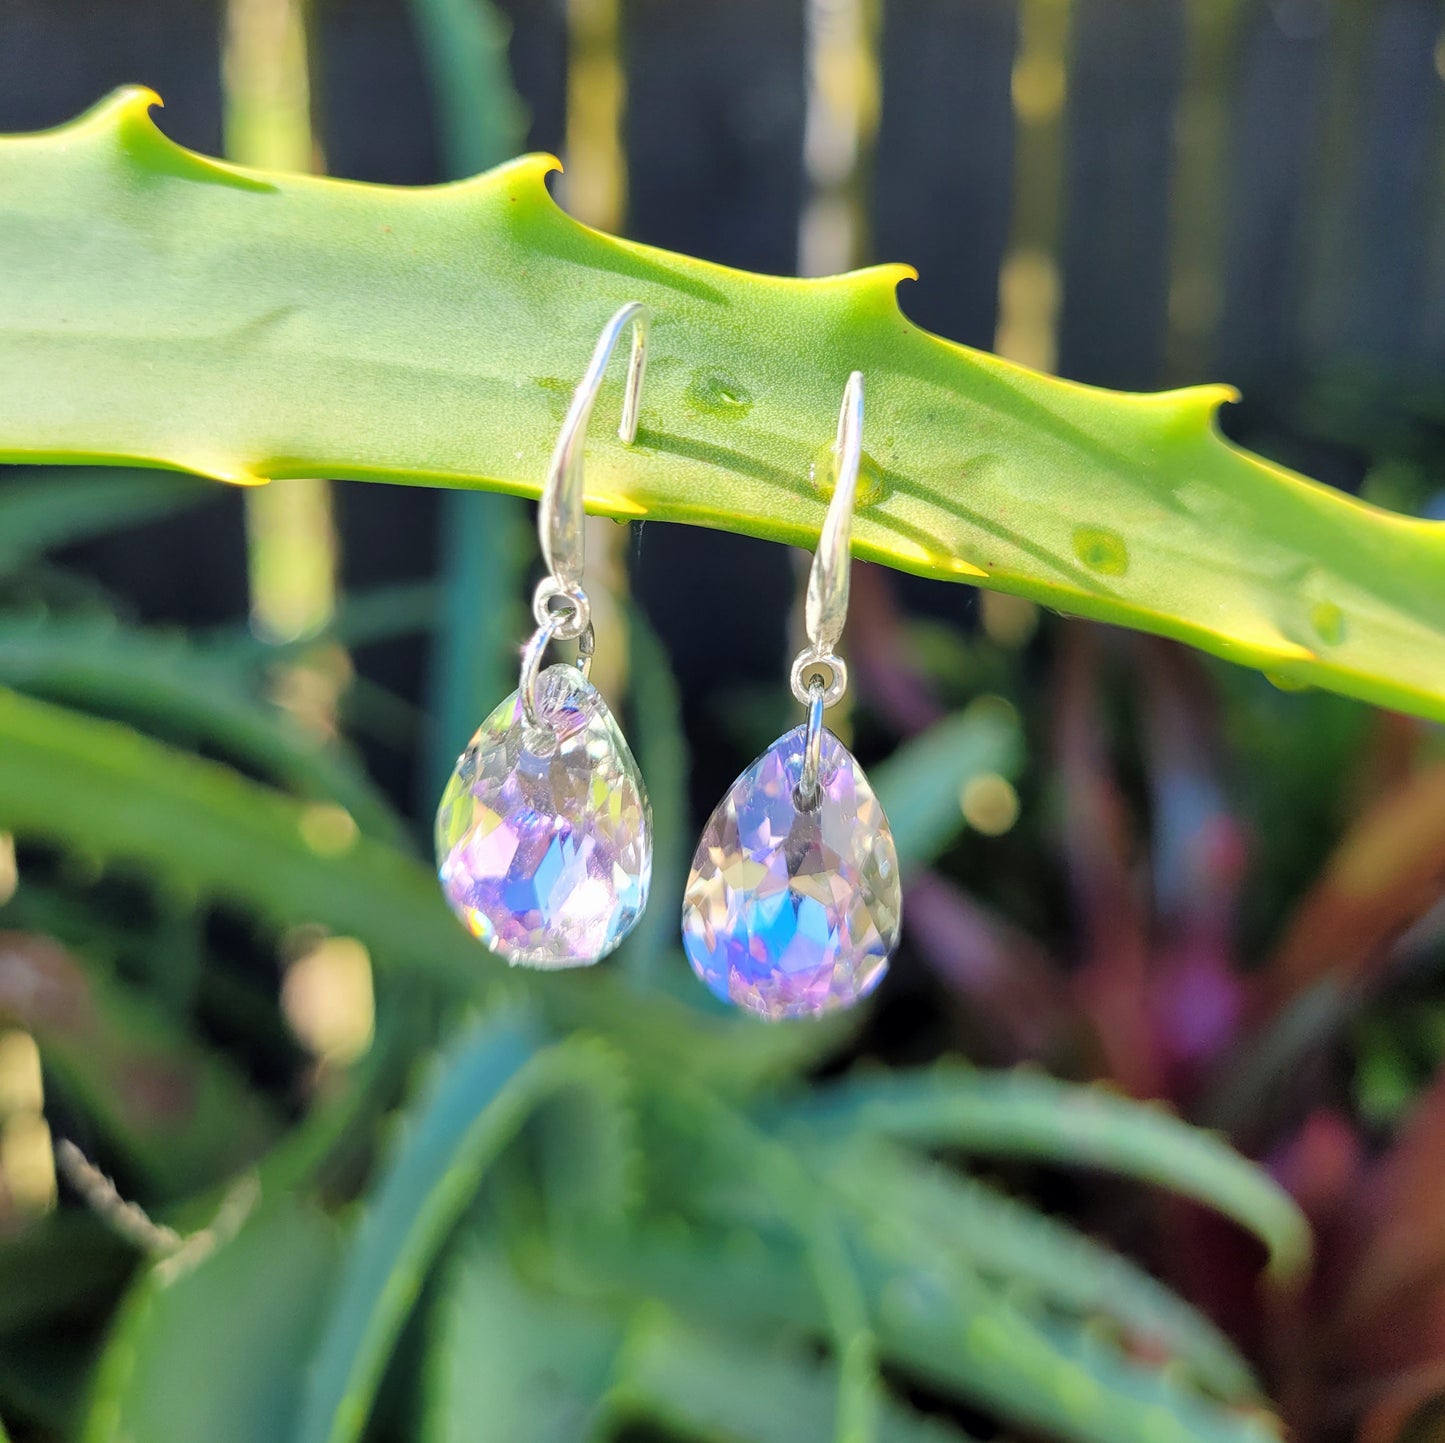
<path fill-rule="evenodd" d="M 423 189 L 270 175 L 173 144 L 153 103 L 0 143 L 0 459 L 535 494 L 640 299 L 642 432 L 597 428 L 595 511 L 811 543 L 860 368 L 858 556 L 1445 718 L 1445 523 L 1225 443 L 1227 387 L 1120 394 L 948 344 L 899 311 L 899 266 L 788 280 L 600 235 L 548 157 Z"/>

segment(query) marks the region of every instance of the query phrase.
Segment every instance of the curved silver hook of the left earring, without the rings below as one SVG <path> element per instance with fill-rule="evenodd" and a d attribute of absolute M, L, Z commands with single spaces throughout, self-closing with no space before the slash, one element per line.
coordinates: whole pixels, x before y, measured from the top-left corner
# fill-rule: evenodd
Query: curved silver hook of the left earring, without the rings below
<path fill-rule="evenodd" d="M 623 391 L 623 419 L 617 435 L 627 443 L 637 438 L 637 407 L 642 400 L 642 380 L 647 370 L 647 335 L 652 328 L 652 312 L 640 300 L 629 300 L 607 322 L 597 339 L 592 360 L 587 365 L 572 404 L 566 409 L 562 433 L 556 438 L 552 462 L 548 467 L 538 506 L 538 537 L 542 542 L 542 556 L 548 571 L 564 589 L 582 584 L 582 449 L 587 442 L 587 423 L 592 419 L 592 406 L 603 389 L 607 363 L 617 348 L 623 331 L 633 328 L 631 357 L 627 361 L 627 386 Z"/>

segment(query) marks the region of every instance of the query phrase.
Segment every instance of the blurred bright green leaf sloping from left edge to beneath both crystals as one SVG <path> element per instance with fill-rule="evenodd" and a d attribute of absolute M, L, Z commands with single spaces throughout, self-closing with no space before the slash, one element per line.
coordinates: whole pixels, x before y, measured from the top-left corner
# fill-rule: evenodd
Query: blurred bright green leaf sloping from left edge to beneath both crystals
<path fill-rule="evenodd" d="M 215 763 L 4 688 L 0 829 L 144 868 L 181 894 L 228 900 L 276 926 L 355 936 L 379 968 L 460 991 L 526 991 L 558 1024 L 604 1031 L 640 1049 L 657 1075 L 681 1069 L 728 1095 L 806 1070 L 845 1026 L 707 1017 L 624 987 L 605 966 L 566 987 L 509 969 L 458 926 L 415 857 L 337 831 L 329 815 Z"/>

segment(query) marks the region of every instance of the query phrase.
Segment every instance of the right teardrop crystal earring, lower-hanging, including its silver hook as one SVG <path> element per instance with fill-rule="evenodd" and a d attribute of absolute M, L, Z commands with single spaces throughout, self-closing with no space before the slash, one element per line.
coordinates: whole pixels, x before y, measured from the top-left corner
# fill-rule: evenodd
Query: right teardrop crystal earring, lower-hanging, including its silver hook
<path fill-rule="evenodd" d="M 724 1001 L 772 1020 L 851 1007 L 879 985 L 899 940 L 889 819 L 863 768 L 822 724 L 848 685 L 834 649 L 848 615 L 861 448 L 863 376 L 854 371 L 808 576 L 809 644 L 792 670 L 808 721 L 733 783 L 702 832 L 682 903 L 694 972 Z"/>

